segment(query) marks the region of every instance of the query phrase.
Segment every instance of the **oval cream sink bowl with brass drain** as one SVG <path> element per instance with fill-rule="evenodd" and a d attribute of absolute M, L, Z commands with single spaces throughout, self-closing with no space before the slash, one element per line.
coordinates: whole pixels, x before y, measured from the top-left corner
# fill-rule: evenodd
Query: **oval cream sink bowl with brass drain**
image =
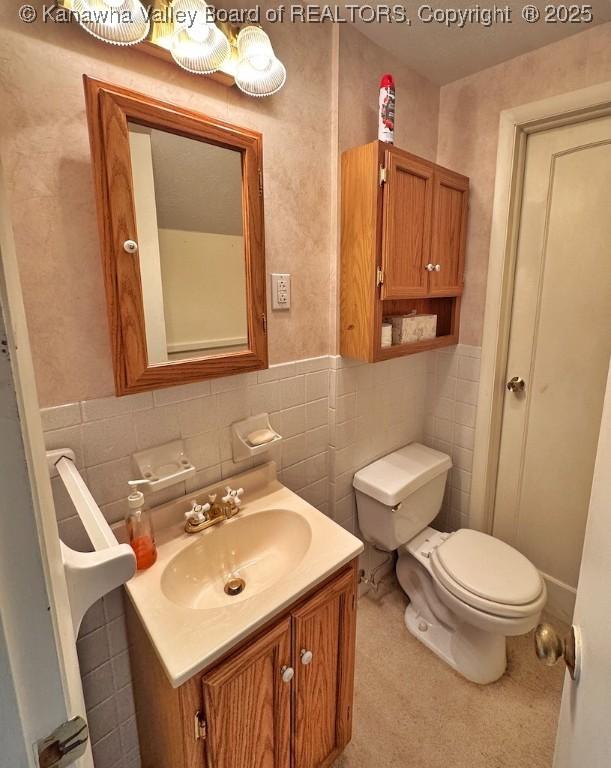
<path fill-rule="evenodd" d="M 235 517 L 194 538 L 166 565 L 161 590 L 177 605 L 203 610 L 248 600 L 281 581 L 303 560 L 312 528 L 296 512 L 270 509 Z M 227 594 L 225 586 L 239 579 L 242 591 Z"/>

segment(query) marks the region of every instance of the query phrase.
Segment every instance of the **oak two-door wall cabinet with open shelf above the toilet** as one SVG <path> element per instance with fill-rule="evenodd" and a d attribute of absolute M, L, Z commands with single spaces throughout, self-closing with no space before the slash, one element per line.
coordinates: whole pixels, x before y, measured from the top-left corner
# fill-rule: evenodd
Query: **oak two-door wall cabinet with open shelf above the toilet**
<path fill-rule="evenodd" d="M 469 179 L 374 141 L 342 155 L 340 352 L 367 362 L 456 344 Z M 382 347 L 386 316 L 437 315 L 437 338 Z"/>

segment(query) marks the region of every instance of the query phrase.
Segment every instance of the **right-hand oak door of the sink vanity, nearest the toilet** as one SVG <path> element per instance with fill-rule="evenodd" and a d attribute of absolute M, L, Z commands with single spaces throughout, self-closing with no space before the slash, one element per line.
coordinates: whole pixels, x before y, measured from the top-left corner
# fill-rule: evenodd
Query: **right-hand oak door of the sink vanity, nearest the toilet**
<path fill-rule="evenodd" d="M 294 768 L 330 766 L 350 741 L 356 571 L 293 613 Z"/>

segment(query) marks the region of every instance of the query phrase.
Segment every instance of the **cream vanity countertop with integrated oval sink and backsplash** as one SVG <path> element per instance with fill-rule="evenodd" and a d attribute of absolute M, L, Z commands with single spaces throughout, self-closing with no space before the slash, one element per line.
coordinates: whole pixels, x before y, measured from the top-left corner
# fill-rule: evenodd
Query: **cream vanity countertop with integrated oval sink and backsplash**
<path fill-rule="evenodd" d="M 244 488 L 240 513 L 184 531 L 193 501 Z M 127 582 L 132 605 L 174 688 L 363 551 L 362 543 L 278 482 L 262 464 L 151 510 L 157 562 Z M 231 579 L 243 579 L 228 595 Z"/>

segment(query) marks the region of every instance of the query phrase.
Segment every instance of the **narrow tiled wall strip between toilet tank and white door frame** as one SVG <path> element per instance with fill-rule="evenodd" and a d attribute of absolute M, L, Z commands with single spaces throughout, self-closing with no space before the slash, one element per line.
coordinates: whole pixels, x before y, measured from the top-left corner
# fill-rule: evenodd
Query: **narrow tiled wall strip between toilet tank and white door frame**
<path fill-rule="evenodd" d="M 424 441 L 449 454 L 454 464 L 436 521 L 448 531 L 469 525 L 480 358 L 480 347 L 466 344 L 431 352 L 428 358 Z"/>

